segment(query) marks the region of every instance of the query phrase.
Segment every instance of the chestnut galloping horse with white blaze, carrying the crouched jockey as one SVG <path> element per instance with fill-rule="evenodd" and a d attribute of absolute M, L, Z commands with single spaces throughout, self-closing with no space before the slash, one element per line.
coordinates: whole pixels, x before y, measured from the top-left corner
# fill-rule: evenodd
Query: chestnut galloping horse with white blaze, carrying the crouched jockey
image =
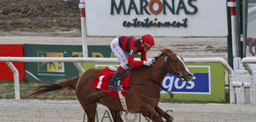
<path fill-rule="evenodd" d="M 173 117 L 158 106 L 161 82 L 168 72 L 183 78 L 184 81 L 191 81 L 194 74 L 184 64 L 183 58 L 172 50 L 164 48 L 161 49 L 161 52 L 161 55 L 155 57 L 154 66 L 146 66 L 141 70 L 138 70 L 138 68 L 132 70 L 130 87 L 126 91 L 125 99 L 128 110 L 142 113 L 143 116 L 149 117 L 154 122 L 163 122 L 162 117 L 167 122 L 172 122 Z M 37 87 L 36 92 L 28 97 L 67 87 L 69 90 L 75 90 L 77 99 L 87 114 L 88 122 L 95 122 L 97 103 L 107 106 L 114 122 L 124 122 L 121 118 L 120 111 L 124 111 L 124 109 L 120 99 L 93 87 L 95 77 L 102 70 L 101 68 L 91 68 L 81 76 L 41 85 Z"/>

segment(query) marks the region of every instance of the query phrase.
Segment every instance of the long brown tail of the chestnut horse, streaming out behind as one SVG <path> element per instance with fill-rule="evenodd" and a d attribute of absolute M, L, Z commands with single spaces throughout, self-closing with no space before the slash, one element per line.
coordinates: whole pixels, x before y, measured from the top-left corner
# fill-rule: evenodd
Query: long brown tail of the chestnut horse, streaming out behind
<path fill-rule="evenodd" d="M 67 87 L 67 90 L 70 90 L 71 92 L 75 90 L 78 78 L 79 76 L 67 79 L 65 81 L 60 80 L 60 81 L 57 81 L 56 83 L 47 83 L 47 84 L 40 85 L 39 87 L 36 88 L 34 93 L 30 94 L 26 98 L 29 98 L 32 96 L 35 97 L 39 94 L 47 93 L 55 90 L 62 90 L 62 89 L 65 89 L 66 87 Z"/>

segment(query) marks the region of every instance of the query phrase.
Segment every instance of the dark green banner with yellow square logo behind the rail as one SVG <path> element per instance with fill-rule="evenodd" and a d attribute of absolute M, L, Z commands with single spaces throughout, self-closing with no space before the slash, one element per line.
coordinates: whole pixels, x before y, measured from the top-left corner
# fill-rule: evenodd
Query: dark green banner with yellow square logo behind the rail
<path fill-rule="evenodd" d="M 89 57 L 110 57 L 110 46 L 88 46 Z M 24 57 L 83 57 L 82 46 L 24 44 Z M 70 62 L 25 62 L 25 77 L 29 81 L 56 81 L 81 75 Z M 82 63 L 80 63 L 83 65 Z"/>

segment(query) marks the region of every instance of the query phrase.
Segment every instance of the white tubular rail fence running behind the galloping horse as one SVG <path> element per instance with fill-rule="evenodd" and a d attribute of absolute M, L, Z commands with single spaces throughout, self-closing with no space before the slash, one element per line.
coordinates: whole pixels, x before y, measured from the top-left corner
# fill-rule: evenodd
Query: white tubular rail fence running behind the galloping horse
<path fill-rule="evenodd" d="M 139 59 L 138 59 L 139 60 Z M 78 62 L 119 63 L 116 58 L 41 58 L 41 57 L 0 57 L 6 62 L 14 74 L 15 99 L 20 99 L 18 70 L 12 62 L 73 62 L 77 69 L 83 73 L 83 67 Z M 235 72 L 223 58 L 184 58 L 185 63 L 221 63 L 229 73 L 230 103 L 235 104 L 235 87 L 250 87 L 250 103 L 256 105 L 256 78 L 248 63 L 256 63 L 256 58 L 243 58 L 242 63 L 251 76 L 250 83 L 235 81 Z M 241 94 L 243 95 L 243 94 Z M 241 97 L 241 99 L 244 97 Z"/>

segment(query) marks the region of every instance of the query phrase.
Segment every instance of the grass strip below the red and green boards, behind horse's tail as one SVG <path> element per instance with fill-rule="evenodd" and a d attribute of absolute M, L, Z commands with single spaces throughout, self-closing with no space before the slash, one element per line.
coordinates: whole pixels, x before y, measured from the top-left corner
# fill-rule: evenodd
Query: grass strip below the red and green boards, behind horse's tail
<path fill-rule="evenodd" d="M 26 98 L 34 92 L 36 87 L 47 82 L 42 81 L 19 81 L 20 99 Z M 0 99 L 15 99 L 14 81 L 0 81 Z M 50 99 L 50 100 L 77 100 L 76 93 L 72 91 L 56 90 L 50 93 L 44 93 L 30 99 Z"/>

